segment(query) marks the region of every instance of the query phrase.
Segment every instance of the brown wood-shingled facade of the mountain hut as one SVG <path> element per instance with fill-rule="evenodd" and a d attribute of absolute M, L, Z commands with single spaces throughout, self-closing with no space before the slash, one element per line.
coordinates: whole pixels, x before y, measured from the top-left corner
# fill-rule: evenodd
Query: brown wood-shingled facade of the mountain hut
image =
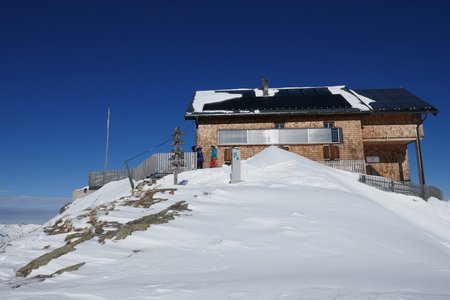
<path fill-rule="evenodd" d="M 419 115 L 420 116 L 420 115 Z M 224 116 L 199 118 L 196 121 L 196 145 L 204 150 L 208 167 L 210 146 L 218 150 L 218 165 L 224 161 L 225 148 L 218 145 L 218 130 L 273 129 L 275 123 L 284 123 L 285 128 L 323 128 L 324 122 L 334 122 L 342 128 L 343 142 L 339 147 L 341 160 L 364 160 L 367 156 L 378 156 L 379 163 L 368 164 L 368 172 L 395 180 L 409 180 L 407 144 L 415 139 L 419 119 L 413 114 L 390 115 L 323 115 L 323 116 Z M 423 129 L 421 129 L 423 130 Z M 423 131 L 421 131 L 423 134 Z M 315 161 L 323 157 L 323 144 L 280 145 L 291 152 Z M 247 159 L 268 145 L 240 145 L 241 158 Z"/>

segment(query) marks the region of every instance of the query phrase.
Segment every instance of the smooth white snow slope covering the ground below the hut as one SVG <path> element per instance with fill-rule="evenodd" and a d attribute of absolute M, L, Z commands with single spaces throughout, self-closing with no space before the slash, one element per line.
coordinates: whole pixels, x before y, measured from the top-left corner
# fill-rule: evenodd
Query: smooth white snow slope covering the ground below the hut
<path fill-rule="evenodd" d="M 274 147 L 242 162 L 243 182 L 229 174 L 185 172 L 186 185 L 167 176 L 134 195 L 123 180 L 76 200 L 44 226 L 63 233 L 41 227 L 1 248 L 0 299 L 450 299 L 448 202 Z M 105 238 L 157 213 L 146 230 Z M 73 251 L 16 276 L 66 238 Z"/>

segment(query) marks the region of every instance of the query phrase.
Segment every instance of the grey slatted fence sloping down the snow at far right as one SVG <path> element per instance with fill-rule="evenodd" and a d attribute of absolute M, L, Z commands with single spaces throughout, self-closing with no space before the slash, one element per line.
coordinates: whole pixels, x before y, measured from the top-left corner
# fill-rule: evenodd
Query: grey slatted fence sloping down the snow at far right
<path fill-rule="evenodd" d="M 417 196 L 425 200 L 428 200 L 430 197 L 444 200 L 442 191 L 431 185 L 419 185 L 412 182 L 390 180 L 385 177 L 365 174 L 359 175 L 359 181 L 382 191 Z"/>

